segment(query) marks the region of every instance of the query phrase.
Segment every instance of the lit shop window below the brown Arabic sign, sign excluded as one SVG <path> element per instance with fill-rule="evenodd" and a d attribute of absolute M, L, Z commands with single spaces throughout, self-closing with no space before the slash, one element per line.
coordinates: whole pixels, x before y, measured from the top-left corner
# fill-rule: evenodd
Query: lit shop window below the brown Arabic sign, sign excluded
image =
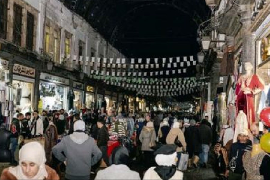
<path fill-rule="evenodd" d="M 14 108 L 25 114 L 33 110 L 33 83 L 13 80 Z"/>

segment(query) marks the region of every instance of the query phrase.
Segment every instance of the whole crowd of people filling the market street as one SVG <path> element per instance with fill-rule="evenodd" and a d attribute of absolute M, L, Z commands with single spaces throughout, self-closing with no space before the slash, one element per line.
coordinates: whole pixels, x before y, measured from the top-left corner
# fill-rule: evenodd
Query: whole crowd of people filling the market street
<path fill-rule="evenodd" d="M 242 179 L 246 172 L 247 179 L 270 179 L 270 156 L 258 146 L 257 123 L 251 133 L 239 132 L 233 143 L 231 127 L 224 126 L 215 140 L 208 116 L 201 121 L 197 117 L 164 112 L 116 115 L 104 108 L 16 112 L 10 131 L 3 124 L 0 128 L 0 161 L 12 165 L 0 179 L 59 179 L 63 169 L 65 179 L 183 179 L 187 169 L 211 167 L 211 147 L 224 177 Z M 120 143 L 109 150 L 110 141 Z M 258 154 L 259 161 L 252 163 Z M 131 166 L 134 162 L 142 171 Z"/>

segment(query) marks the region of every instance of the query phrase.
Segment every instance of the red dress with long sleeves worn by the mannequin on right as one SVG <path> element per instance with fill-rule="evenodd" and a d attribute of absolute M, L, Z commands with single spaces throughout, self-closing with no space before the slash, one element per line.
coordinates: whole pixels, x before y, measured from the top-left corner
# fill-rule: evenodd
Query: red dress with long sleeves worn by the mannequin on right
<path fill-rule="evenodd" d="M 242 79 L 239 83 L 244 83 L 244 86 L 250 88 L 251 90 L 264 89 L 264 85 L 260 82 L 256 74 L 252 76 L 249 84 L 247 82 L 247 79 Z M 242 90 L 240 90 L 239 94 L 236 93 L 236 95 L 237 112 L 239 112 L 239 110 L 244 111 L 244 113 L 247 115 L 248 128 L 250 128 L 251 124 L 255 122 L 254 95 L 244 94 L 244 91 Z"/>

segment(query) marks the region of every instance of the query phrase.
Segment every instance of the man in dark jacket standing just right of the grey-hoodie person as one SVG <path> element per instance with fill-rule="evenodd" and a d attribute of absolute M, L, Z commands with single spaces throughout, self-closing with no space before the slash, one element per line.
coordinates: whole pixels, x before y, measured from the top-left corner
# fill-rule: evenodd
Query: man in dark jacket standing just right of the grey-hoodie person
<path fill-rule="evenodd" d="M 108 133 L 107 127 L 105 126 L 105 120 L 103 118 L 99 118 L 97 125 L 99 128 L 97 145 L 102 152 L 103 160 L 105 161 L 107 166 L 110 166 L 109 158 L 107 155 L 107 150 L 108 150 L 107 145 L 108 145 L 108 141 L 109 141 L 109 133 Z"/>

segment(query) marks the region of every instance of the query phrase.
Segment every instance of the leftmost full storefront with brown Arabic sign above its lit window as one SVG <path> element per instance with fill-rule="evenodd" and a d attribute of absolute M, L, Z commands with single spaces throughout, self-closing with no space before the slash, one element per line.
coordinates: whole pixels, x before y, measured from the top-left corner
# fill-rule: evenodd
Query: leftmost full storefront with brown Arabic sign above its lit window
<path fill-rule="evenodd" d="M 14 110 L 25 114 L 33 110 L 35 69 L 14 64 L 13 66 L 13 102 Z"/>

